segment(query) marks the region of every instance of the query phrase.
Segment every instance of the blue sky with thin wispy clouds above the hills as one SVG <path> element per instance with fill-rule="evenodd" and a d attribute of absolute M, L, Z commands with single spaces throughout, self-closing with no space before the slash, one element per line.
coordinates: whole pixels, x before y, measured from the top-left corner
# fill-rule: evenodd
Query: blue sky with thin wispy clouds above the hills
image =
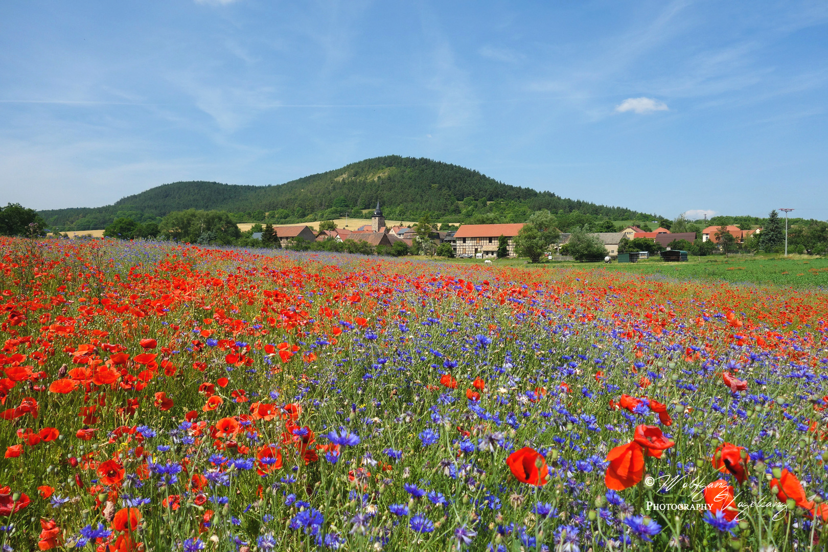
<path fill-rule="evenodd" d="M 0 3 L 0 203 L 425 156 L 670 218 L 828 218 L 828 2 Z"/>

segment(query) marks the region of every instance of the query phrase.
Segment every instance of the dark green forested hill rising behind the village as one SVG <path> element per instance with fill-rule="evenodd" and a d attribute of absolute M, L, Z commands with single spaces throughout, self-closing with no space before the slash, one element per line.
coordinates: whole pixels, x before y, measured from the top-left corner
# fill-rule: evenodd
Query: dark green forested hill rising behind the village
<path fill-rule="evenodd" d="M 367 159 L 282 185 L 174 182 L 130 195 L 113 205 L 46 210 L 41 216 L 57 228 L 77 230 L 103 228 L 116 216 L 140 221 L 185 209 L 228 211 L 236 218 L 249 220 L 263 219 L 267 213 L 267 219 L 294 222 L 338 218 L 346 213 L 360 217 L 361 209 L 373 209 L 377 201 L 389 220 L 416 220 L 430 214 L 432 219 L 465 222 L 474 214 L 492 209 L 500 209 L 499 218 L 512 220 L 541 209 L 561 214 L 577 211 L 613 220 L 654 219 L 632 209 L 503 184 L 461 166 L 401 156 Z"/>

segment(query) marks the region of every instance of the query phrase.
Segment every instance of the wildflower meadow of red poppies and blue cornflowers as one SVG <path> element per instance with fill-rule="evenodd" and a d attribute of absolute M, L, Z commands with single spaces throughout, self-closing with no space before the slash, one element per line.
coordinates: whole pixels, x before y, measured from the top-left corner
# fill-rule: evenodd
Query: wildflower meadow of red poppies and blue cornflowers
<path fill-rule="evenodd" d="M 2 550 L 825 550 L 820 290 L 0 238 Z"/>

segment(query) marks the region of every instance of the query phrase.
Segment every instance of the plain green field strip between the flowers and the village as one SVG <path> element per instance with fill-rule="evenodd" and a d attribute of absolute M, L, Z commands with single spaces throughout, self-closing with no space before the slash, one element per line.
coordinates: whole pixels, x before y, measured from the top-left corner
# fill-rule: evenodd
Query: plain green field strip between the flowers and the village
<path fill-rule="evenodd" d="M 479 259 L 458 259 L 455 262 L 480 264 Z M 691 257 L 688 262 L 663 262 L 655 257 L 635 263 L 612 262 L 541 262 L 537 265 L 527 264 L 524 259 L 500 259 L 497 266 L 522 266 L 551 268 L 556 266 L 573 266 L 583 270 L 625 271 L 633 274 L 662 275 L 671 278 L 745 282 L 751 285 L 790 286 L 795 288 L 828 288 L 828 259 L 825 257 L 808 257 L 792 255 L 787 259 L 779 257 L 735 256 L 725 258 L 720 255 L 712 257 Z"/>

